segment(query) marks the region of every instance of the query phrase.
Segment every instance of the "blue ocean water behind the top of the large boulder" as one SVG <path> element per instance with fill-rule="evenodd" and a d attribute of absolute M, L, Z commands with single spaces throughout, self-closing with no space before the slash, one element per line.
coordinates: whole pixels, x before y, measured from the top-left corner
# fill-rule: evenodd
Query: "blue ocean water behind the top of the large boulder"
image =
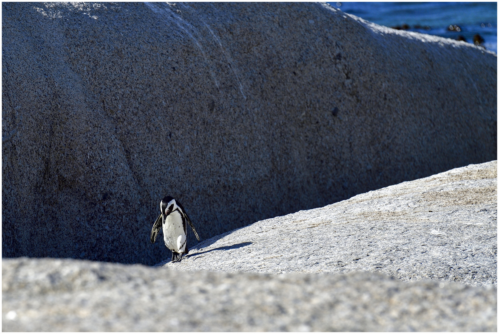
<path fill-rule="evenodd" d="M 497 53 L 497 2 L 328 2 L 368 21 L 452 39 Z M 451 29 L 452 26 L 452 29 Z M 476 35 L 480 37 L 475 37 Z"/>

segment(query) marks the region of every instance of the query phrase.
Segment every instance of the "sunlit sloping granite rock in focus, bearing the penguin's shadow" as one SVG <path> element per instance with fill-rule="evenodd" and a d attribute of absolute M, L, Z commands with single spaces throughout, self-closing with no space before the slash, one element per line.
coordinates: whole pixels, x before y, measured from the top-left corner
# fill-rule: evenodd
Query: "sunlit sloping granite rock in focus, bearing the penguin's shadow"
<path fill-rule="evenodd" d="M 165 263 L 272 274 L 362 270 L 497 287 L 497 161 L 259 221 Z"/>

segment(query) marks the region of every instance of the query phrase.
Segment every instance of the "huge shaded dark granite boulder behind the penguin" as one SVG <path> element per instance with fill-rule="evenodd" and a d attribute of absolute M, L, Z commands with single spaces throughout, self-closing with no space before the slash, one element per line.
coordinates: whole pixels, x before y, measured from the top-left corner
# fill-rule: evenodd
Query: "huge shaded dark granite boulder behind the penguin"
<path fill-rule="evenodd" d="M 2 257 L 153 264 L 496 159 L 496 55 L 312 3 L 2 3 Z M 188 244 L 195 240 L 188 232 Z"/>

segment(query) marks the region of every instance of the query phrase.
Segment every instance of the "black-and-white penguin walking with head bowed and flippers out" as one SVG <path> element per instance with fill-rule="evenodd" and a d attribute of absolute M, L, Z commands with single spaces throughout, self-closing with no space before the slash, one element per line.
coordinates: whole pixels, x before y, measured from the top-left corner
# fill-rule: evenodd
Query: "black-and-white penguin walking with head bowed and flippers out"
<path fill-rule="evenodd" d="M 154 244 L 159 230 L 163 228 L 165 246 L 172 251 L 172 262 L 180 262 L 184 254 L 189 253 L 189 249 L 187 248 L 186 223 L 189 223 L 196 235 L 196 239 L 199 241 L 198 232 L 196 232 L 182 204 L 173 197 L 165 196 L 161 200 L 159 207 L 161 213 L 154 222 L 151 231 L 151 242 Z"/>

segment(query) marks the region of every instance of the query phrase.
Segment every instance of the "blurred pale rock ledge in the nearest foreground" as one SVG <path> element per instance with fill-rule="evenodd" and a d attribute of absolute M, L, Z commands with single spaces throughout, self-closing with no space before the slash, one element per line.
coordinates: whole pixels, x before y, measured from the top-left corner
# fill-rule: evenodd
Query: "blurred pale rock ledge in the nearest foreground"
<path fill-rule="evenodd" d="M 384 275 L 2 261 L 2 331 L 493 331 L 497 290 Z"/>

